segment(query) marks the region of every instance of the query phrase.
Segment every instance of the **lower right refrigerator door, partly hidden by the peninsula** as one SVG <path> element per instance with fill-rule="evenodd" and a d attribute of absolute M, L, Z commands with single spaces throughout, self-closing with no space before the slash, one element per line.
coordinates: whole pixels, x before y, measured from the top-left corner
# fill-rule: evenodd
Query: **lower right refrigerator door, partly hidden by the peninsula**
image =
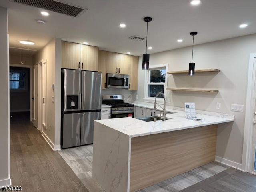
<path fill-rule="evenodd" d="M 81 145 L 93 143 L 94 120 L 100 119 L 101 112 L 82 113 L 81 119 Z"/>

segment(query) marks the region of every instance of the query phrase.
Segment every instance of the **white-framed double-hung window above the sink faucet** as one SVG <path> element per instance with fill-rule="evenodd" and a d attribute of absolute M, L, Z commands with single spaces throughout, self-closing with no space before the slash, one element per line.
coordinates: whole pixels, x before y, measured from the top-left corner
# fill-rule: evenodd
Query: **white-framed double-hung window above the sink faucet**
<path fill-rule="evenodd" d="M 162 92 L 166 95 L 166 69 L 168 69 L 168 64 L 155 65 L 149 68 L 145 76 L 146 82 L 144 101 L 152 102 L 158 92 Z M 158 98 L 163 98 L 163 96 L 159 95 Z"/>

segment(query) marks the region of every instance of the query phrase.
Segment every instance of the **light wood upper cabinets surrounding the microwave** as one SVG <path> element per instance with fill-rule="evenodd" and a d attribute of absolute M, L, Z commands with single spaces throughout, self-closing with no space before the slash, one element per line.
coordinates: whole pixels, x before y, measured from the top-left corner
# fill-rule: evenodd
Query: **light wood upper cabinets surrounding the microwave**
<path fill-rule="evenodd" d="M 138 89 L 138 56 L 99 50 L 99 72 L 102 72 L 102 89 L 106 88 L 106 74 L 128 74 L 129 89 Z"/>

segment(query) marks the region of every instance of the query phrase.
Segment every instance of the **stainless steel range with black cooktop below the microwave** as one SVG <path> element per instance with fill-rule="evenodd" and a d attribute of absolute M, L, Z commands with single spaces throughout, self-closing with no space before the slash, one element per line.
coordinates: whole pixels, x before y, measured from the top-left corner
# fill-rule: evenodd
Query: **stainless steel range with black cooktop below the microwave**
<path fill-rule="evenodd" d="M 124 103 L 123 95 L 102 95 L 102 104 L 111 105 L 111 118 L 134 117 L 134 105 Z"/>

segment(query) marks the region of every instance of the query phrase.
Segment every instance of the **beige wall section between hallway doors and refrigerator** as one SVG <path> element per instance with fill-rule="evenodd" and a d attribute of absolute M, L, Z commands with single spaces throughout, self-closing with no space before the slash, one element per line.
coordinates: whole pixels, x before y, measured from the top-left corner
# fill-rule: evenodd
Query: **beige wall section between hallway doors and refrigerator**
<path fill-rule="evenodd" d="M 53 150 L 60 150 L 61 112 L 61 40 L 52 39 L 33 59 L 33 63 L 47 60 L 46 74 L 46 130 L 43 135 Z M 52 90 L 54 84 L 54 90 Z M 54 97 L 54 102 L 52 98 Z"/>

